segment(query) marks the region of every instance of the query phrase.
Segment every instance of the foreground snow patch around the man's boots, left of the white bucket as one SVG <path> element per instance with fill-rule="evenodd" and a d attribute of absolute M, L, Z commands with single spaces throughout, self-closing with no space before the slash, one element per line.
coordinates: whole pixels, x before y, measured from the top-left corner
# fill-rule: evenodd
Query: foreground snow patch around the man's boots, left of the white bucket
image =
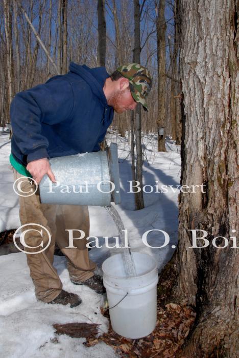
<path fill-rule="evenodd" d="M 0 260 L 0 356 L 3 358 L 114 357 L 106 344 L 85 348 L 84 339 L 57 336 L 55 323 L 87 322 L 101 324 L 107 332 L 108 320 L 102 316 L 102 296 L 88 287 L 75 286 L 68 279 L 63 257 L 55 257 L 56 266 L 65 290 L 78 293 L 82 304 L 75 308 L 37 302 L 29 276 L 25 254 L 1 256 Z"/>

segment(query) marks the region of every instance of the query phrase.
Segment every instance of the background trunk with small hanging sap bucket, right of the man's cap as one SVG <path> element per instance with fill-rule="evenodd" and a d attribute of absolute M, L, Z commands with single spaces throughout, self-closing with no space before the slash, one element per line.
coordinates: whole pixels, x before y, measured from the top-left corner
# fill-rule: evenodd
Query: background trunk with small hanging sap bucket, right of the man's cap
<path fill-rule="evenodd" d="M 158 64 L 158 151 L 165 152 L 165 0 L 159 0 L 156 8 L 157 64 Z"/>

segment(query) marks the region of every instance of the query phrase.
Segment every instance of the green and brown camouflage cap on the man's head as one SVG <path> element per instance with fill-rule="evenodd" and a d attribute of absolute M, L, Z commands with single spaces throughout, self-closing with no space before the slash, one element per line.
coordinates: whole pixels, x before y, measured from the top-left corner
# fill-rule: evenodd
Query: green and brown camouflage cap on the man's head
<path fill-rule="evenodd" d="M 128 64 L 117 68 L 118 72 L 129 79 L 129 87 L 133 99 L 141 103 L 145 111 L 148 111 L 146 97 L 152 87 L 152 78 L 149 71 L 139 64 Z"/>

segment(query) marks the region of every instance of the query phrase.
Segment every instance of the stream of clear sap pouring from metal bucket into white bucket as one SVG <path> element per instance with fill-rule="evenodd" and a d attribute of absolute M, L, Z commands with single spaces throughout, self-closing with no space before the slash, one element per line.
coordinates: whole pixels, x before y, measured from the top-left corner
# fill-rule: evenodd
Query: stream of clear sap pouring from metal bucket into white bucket
<path fill-rule="evenodd" d="M 121 239 L 121 244 L 123 246 L 125 246 L 125 235 L 124 235 L 124 224 L 121 220 L 120 215 L 118 215 L 117 210 L 112 206 L 105 206 L 107 212 L 110 214 L 110 216 L 112 217 L 112 219 L 114 220 L 114 223 L 118 229 L 118 235 L 120 236 Z M 129 241 L 128 241 L 129 242 Z M 129 246 L 130 246 L 130 242 L 129 242 Z M 133 256 L 131 255 L 131 250 L 128 247 L 124 247 L 123 248 L 123 261 L 124 261 L 124 267 L 125 267 L 125 273 L 127 277 L 136 277 L 136 269 L 135 269 L 135 264 L 134 264 L 134 259 Z"/>

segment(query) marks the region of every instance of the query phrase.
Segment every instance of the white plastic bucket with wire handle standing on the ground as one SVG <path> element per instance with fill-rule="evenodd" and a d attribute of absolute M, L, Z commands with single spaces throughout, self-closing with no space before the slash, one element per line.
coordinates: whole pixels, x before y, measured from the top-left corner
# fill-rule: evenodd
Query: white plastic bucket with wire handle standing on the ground
<path fill-rule="evenodd" d="M 156 326 L 158 270 L 152 256 L 139 252 L 132 255 L 136 277 L 126 277 L 121 254 L 105 260 L 102 270 L 113 330 L 138 339 Z"/>

